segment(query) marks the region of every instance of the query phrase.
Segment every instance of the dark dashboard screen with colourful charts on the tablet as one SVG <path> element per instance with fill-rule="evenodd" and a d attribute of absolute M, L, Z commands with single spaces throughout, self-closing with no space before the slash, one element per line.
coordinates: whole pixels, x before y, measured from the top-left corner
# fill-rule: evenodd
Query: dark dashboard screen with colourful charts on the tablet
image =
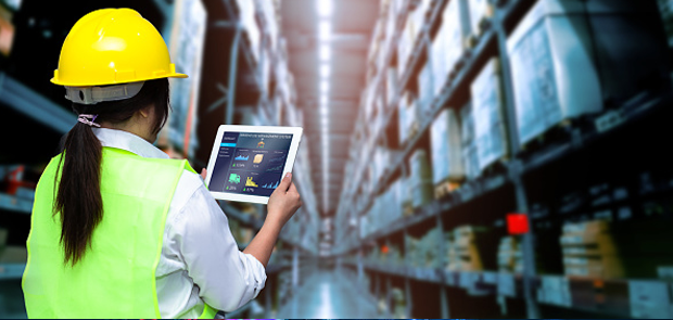
<path fill-rule="evenodd" d="M 280 183 L 292 135 L 225 132 L 208 189 L 269 196 Z"/>

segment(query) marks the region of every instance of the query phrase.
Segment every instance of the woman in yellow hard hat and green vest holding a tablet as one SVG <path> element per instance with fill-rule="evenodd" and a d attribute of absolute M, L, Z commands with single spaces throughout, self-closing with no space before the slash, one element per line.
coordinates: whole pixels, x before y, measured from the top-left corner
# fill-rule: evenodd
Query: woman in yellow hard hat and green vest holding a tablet
<path fill-rule="evenodd" d="M 213 318 L 264 287 L 296 188 L 288 174 L 240 252 L 202 178 L 151 144 L 168 117 L 168 77 L 187 76 L 130 9 L 89 13 L 65 39 L 52 82 L 79 116 L 36 190 L 30 318 Z"/>

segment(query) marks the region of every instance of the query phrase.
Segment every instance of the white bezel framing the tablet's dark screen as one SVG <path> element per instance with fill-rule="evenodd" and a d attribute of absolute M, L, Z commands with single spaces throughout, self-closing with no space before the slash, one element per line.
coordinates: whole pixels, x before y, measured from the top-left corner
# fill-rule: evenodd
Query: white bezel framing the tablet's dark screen
<path fill-rule="evenodd" d="M 205 178 L 205 184 L 211 185 L 211 179 L 213 178 L 213 169 L 215 168 L 215 162 L 219 154 L 219 148 L 221 144 L 225 132 L 249 132 L 249 133 L 278 133 L 278 135 L 292 135 L 292 142 L 290 142 L 290 149 L 288 150 L 288 158 L 285 159 L 285 166 L 282 171 L 284 177 L 288 172 L 292 172 L 294 166 L 294 159 L 299 151 L 300 141 L 302 140 L 302 127 L 278 127 L 278 126 L 243 126 L 243 125 L 220 125 L 217 129 L 217 136 L 213 142 L 213 150 L 207 165 L 207 174 Z M 268 196 L 263 195 L 247 195 L 239 193 L 227 193 L 211 191 L 213 197 L 218 200 L 238 201 L 247 203 L 267 204 L 269 202 Z"/>

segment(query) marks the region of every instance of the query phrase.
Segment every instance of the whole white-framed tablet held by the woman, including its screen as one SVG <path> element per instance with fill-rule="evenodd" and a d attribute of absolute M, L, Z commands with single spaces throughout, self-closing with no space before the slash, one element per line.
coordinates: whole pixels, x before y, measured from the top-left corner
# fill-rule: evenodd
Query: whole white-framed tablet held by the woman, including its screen
<path fill-rule="evenodd" d="M 207 166 L 206 185 L 219 200 L 267 204 L 292 171 L 301 127 L 223 125 Z"/>

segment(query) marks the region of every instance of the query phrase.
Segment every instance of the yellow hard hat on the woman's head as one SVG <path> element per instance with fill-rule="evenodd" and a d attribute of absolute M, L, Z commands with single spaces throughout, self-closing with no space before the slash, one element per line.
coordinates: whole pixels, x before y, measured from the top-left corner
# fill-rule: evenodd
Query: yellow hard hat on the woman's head
<path fill-rule="evenodd" d="M 158 78 L 175 72 L 160 33 L 131 9 L 101 9 L 82 16 L 63 42 L 52 82 L 93 87 Z"/>

